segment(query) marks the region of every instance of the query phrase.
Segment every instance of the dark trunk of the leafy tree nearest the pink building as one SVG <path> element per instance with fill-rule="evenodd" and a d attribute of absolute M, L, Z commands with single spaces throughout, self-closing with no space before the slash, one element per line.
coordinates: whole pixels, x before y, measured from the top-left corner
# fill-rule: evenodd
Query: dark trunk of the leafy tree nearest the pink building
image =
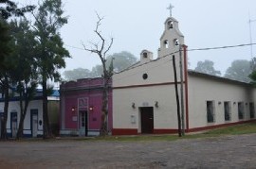
<path fill-rule="evenodd" d="M 47 107 L 47 82 L 46 78 L 43 77 L 43 128 L 44 134 L 43 139 L 48 139 L 51 137 L 50 127 L 49 127 L 49 119 L 48 119 L 48 107 Z"/>

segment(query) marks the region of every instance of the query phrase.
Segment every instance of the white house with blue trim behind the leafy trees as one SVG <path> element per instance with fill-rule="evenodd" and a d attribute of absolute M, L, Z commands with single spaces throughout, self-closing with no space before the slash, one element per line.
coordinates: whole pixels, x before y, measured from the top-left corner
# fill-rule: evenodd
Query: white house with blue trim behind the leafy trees
<path fill-rule="evenodd" d="M 54 130 L 56 123 L 59 123 L 59 92 L 54 91 L 48 96 L 48 116 L 50 126 Z M 3 118 L 4 98 L 0 95 L 0 117 Z M 19 97 L 14 96 L 9 100 L 9 113 L 7 121 L 7 132 L 9 137 L 15 138 L 20 121 L 20 103 Z M 39 137 L 43 135 L 43 97 L 42 90 L 38 90 L 36 96 L 29 102 L 27 115 L 24 120 L 23 134 L 25 137 Z M 0 120 L 1 132 L 1 120 Z"/>

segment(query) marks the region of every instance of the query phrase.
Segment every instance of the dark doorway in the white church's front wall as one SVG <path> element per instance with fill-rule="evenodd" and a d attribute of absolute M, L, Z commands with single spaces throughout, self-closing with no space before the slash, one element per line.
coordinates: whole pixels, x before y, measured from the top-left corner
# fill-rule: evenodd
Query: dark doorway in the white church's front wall
<path fill-rule="evenodd" d="M 154 109 L 153 107 L 140 108 L 141 133 L 152 134 L 154 132 Z"/>

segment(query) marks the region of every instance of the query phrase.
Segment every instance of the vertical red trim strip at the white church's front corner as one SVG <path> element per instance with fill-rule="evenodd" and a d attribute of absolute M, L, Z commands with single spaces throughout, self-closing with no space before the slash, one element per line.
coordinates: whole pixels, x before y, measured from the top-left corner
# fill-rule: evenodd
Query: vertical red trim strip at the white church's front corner
<path fill-rule="evenodd" d="M 183 44 L 184 52 L 184 73 L 185 73 L 185 99 L 186 99 L 186 129 L 190 129 L 189 124 L 189 85 L 188 85 L 188 58 L 187 58 L 187 48 L 188 46 Z"/>

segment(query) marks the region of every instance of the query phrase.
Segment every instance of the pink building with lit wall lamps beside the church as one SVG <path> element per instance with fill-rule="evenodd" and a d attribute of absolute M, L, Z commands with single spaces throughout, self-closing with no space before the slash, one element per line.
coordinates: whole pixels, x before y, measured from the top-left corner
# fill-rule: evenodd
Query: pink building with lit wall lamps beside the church
<path fill-rule="evenodd" d="M 83 78 L 63 83 L 60 87 L 60 134 L 99 135 L 103 79 Z M 112 82 L 109 83 L 108 129 L 112 130 Z"/>

